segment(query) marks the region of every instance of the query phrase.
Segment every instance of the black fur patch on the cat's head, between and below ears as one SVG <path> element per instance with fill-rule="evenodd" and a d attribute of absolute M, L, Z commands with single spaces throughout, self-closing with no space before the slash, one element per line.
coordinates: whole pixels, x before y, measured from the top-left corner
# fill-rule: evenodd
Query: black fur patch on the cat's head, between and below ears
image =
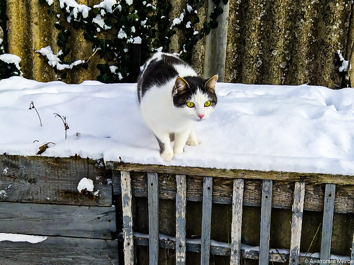
<path fill-rule="evenodd" d="M 211 106 L 215 106 L 218 99 L 213 89 L 207 89 L 205 87 L 206 81 L 209 79 L 204 79 L 200 76 L 186 76 L 183 77 L 185 81 L 187 81 L 189 87 L 183 89 L 182 91 L 177 91 L 174 93 L 173 96 L 173 104 L 176 107 L 185 107 L 187 102 L 190 101 L 192 96 L 197 92 L 199 89 L 202 93 L 208 95 L 209 100 L 211 102 Z"/>

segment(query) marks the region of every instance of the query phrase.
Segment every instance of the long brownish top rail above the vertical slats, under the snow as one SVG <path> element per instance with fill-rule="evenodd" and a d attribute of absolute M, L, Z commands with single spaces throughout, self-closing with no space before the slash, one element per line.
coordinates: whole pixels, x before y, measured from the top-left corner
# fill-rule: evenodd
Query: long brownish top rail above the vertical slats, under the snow
<path fill-rule="evenodd" d="M 123 162 L 107 161 L 107 168 L 113 170 L 157 172 L 166 174 L 210 176 L 210 177 L 229 177 L 244 179 L 271 179 L 280 181 L 304 181 L 311 183 L 333 183 L 341 185 L 353 185 L 354 176 L 351 175 L 332 175 L 322 173 L 298 173 L 298 172 L 279 172 L 279 171 L 257 171 L 241 169 L 213 169 L 205 167 L 187 166 L 165 166 L 165 165 L 142 165 Z"/>

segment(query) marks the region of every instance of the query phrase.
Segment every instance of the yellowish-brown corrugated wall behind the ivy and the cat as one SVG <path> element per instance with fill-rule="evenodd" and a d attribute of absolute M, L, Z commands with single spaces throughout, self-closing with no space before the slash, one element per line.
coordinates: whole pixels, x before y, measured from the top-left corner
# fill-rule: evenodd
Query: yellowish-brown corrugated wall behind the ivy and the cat
<path fill-rule="evenodd" d="M 93 5 L 101 1 L 78 2 Z M 185 0 L 171 0 L 171 4 L 171 17 L 176 17 Z M 343 55 L 349 53 L 348 47 L 352 45 L 351 5 L 351 0 L 231 0 L 225 82 L 308 83 L 339 88 L 341 78 L 335 66 L 335 52 L 341 49 Z M 58 10 L 58 5 L 55 8 Z M 206 6 L 200 10 L 200 24 L 205 21 L 206 12 Z M 38 81 L 56 80 L 53 70 L 35 53 L 48 45 L 58 51 L 55 14 L 48 14 L 38 0 L 8 0 L 7 14 L 9 52 L 21 56 L 24 76 Z M 181 34 L 173 37 L 171 51 L 178 50 L 182 38 Z M 72 60 L 86 59 L 92 54 L 91 43 L 83 39 L 80 30 L 70 38 L 70 46 Z M 193 65 L 201 73 L 204 47 L 205 38 L 193 52 Z M 65 81 L 94 80 L 100 61 L 98 56 L 91 58 L 89 70 L 78 67 Z"/>

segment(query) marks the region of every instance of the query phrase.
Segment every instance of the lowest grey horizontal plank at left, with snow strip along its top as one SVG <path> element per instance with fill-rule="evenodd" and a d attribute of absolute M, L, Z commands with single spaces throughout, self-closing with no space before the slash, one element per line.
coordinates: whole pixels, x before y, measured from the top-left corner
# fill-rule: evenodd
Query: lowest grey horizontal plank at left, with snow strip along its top
<path fill-rule="evenodd" d="M 117 240 L 50 236 L 39 243 L 0 241 L 2 264 L 118 264 Z"/>

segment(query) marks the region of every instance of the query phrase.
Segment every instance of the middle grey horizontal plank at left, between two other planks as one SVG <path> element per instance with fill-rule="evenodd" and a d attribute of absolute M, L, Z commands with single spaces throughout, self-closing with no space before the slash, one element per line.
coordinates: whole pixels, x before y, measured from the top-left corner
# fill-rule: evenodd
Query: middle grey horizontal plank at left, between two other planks
<path fill-rule="evenodd" d="M 0 232 L 112 238 L 115 208 L 0 202 Z"/>

